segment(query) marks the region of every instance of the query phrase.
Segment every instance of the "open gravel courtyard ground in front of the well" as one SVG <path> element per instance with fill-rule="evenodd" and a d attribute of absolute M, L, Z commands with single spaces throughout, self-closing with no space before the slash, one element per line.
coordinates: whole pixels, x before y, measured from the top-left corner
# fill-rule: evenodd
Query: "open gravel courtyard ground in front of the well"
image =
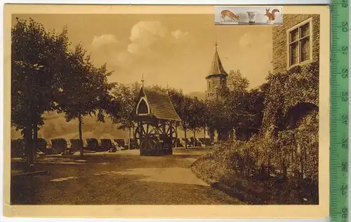
<path fill-rule="evenodd" d="M 45 158 L 49 174 L 15 176 L 12 204 L 240 204 L 198 179 L 190 165 L 205 149 L 176 148 L 173 155 L 138 151 L 89 153 L 84 160 Z M 105 155 L 104 155 L 105 154 Z"/>

